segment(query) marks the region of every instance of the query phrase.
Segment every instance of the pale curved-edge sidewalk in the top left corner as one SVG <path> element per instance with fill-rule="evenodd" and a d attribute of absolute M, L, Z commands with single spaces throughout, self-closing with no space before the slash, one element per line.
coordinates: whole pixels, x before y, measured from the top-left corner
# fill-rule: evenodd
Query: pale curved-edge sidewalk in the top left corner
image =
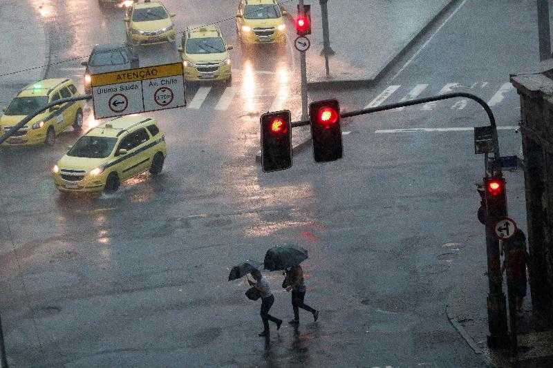
<path fill-rule="evenodd" d="M 21 88 L 44 77 L 46 68 L 37 68 L 48 64 L 48 39 L 42 24 L 23 1 L 2 1 L 0 108 L 6 107 Z"/>

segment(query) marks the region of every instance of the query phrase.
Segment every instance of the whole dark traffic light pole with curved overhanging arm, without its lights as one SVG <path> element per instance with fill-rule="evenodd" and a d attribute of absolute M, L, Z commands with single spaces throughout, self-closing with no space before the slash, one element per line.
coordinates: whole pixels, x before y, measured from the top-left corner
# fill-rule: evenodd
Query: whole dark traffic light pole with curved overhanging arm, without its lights
<path fill-rule="evenodd" d="M 426 97 L 422 99 L 412 99 L 411 101 L 398 102 L 397 104 L 389 104 L 383 106 L 376 106 L 373 108 L 364 108 L 363 110 L 354 110 L 350 112 L 340 113 L 340 117 L 354 117 L 358 115 L 365 115 L 371 113 L 377 113 L 378 111 L 392 110 L 394 108 L 412 106 L 418 104 L 426 104 L 431 101 L 440 101 L 442 99 L 451 99 L 456 97 L 464 97 L 476 101 L 488 115 L 489 125 L 493 131 L 494 158 L 489 162 L 488 156 L 485 157 L 485 171 L 486 175 L 502 176 L 500 165 L 500 153 L 497 137 L 497 126 L 494 113 L 491 112 L 488 104 L 480 97 L 471 95 L 470 93 L 446 93 L 444 95 Z M 310 121 L 303 119 L 301 122 L 292 122 L 292 127 L 309 125 Z M 491 164 L 491 167 L 489 167 Z M 487 251 L 487 266 L 488 266 L 488 283 L 489 293 L 487 296 L 487 313 L 488 313 L 488 345 L 492 349 L 509 346 L 509 333 L 507 329 L 507 309 L 505 307 L 505 294 L 503 293 L 503 275 L 501 273 L 501 261 L 499 253 L 499 240 L 495 236 L 494 224 L 491 220 L 486 221 L 486 251 Z M 512 324 L 512 327 L 515 327 Z M 514 331 L 513 331 L 514 332 Z"/>

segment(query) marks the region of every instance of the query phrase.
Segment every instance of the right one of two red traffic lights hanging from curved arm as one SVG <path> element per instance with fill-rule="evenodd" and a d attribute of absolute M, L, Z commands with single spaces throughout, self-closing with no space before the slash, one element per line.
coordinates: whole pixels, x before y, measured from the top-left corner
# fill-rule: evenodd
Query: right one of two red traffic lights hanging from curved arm
<path fill-rule="evenodd" d="M 328 162 L 342 156 L 340 104 L 336 99 L 315 101 L 309 105 L 309 120 L 316 162 Z"/>

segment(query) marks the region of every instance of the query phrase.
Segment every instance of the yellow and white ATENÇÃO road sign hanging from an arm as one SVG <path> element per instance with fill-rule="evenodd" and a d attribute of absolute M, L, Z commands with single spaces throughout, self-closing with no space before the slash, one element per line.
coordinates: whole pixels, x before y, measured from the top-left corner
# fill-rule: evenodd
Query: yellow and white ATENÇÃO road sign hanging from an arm
<path fill-rule="evenodd" d="M 186 106 L 182 63 L 91 77 L 95 119 Z"/>

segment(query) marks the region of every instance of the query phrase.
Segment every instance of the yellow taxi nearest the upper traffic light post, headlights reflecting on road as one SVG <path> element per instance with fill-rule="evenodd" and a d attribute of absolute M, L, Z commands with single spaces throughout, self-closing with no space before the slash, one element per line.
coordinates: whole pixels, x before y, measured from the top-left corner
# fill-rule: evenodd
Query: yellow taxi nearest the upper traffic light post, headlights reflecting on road
<path fill-rule="evenodd" d="M 236 35 L 243 43 L 284 43 L 286 14 L 276 0 L 240 0 Z"/>

